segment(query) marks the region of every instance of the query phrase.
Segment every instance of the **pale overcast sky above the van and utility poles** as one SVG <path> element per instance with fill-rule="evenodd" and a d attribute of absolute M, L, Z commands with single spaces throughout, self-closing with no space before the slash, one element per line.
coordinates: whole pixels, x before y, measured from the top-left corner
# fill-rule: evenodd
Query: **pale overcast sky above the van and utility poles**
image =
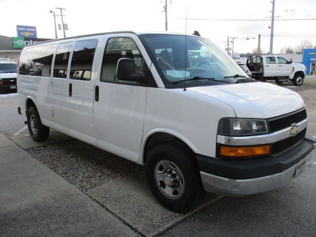
<path fill-rule="evenodd" d="M 60 14 L 55 7 L 66 8 L 63 11 L 69 27 L 66 36 L 121 30 L 164 31 L 163 6 L 164 0 L 0 0 L 1 22 L 7 19 L 0 24 L 0 35 L 14 37 L 16 25 L 29 25 L 37 27 L 38 38 L 54 39 L 54 19 L 49 10 Z M 261 34 L 261 48 L 269 51 L 271 10 L 270 0 L 168 0 L 168 31 L 192 34 L 197 30 L 223 50 L 227 36 L 237 37 L 236 53 L 251 52 Z M 280 20 L 316 18 L 316 0 L 276 0 L 275 16 Z M 57 16 L 56 21 L 60 24 L 61 17 Z M 274 35 L 274 53 L 285 45 L 294 47 L 304 39 L 316 45 L 316 20 L 275 21 Z M 58 31 L 58 37 L 63 37 L 62 31 Z"/>

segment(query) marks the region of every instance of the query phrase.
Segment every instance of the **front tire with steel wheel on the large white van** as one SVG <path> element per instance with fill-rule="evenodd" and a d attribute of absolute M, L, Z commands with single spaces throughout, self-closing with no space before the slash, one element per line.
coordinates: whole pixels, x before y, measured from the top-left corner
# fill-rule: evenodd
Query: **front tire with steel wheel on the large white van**
<path fill-rule="evenodd" d="M 187 211 L 205 196 L 195 154 L 183 145 L 152 149 L 147 154 L 146 178 L 154 197 L 172 211 Z"/>

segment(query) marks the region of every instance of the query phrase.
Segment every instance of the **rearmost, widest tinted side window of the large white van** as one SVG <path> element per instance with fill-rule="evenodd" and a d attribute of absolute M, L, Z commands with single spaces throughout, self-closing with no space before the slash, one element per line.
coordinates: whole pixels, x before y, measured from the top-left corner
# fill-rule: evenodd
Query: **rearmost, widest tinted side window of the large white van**
<path fill-rule="evenodd" d="M 19 74 L 50 77 L 51 63 L 56 44 L 41 45 L 23 50 Z"/>

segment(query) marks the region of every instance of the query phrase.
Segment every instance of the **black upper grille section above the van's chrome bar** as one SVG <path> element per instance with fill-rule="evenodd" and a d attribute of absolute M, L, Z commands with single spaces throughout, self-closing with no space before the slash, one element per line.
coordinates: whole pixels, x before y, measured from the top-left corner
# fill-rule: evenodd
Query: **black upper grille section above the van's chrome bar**
<path fill-rule="evenodd" d="M 275 132 L 277 130 L 281 130 L 283 128 L 291 126 L 294 122 L 300 122 L 307 118 L 306 110 L 299 111 L 295 114 L 291 114 L 288 116 L 284 116 L 281 118 L 272 118 L 268 119 L 268 124 L 270 128 L 270 132 Z"/>

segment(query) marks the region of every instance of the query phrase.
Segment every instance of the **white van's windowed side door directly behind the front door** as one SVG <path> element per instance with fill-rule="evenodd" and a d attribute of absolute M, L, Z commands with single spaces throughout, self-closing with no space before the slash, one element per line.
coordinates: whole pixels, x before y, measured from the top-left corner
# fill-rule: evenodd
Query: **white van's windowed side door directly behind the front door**
<path fill-rule="evenodd" d="M 93 127 L 93 84 L 95 64 L 93 63 L 97 37 L 79 38 L 71 53 L 68 80 L 67 114 L 69 128 L 75 137 L 95 144 Z"/>

